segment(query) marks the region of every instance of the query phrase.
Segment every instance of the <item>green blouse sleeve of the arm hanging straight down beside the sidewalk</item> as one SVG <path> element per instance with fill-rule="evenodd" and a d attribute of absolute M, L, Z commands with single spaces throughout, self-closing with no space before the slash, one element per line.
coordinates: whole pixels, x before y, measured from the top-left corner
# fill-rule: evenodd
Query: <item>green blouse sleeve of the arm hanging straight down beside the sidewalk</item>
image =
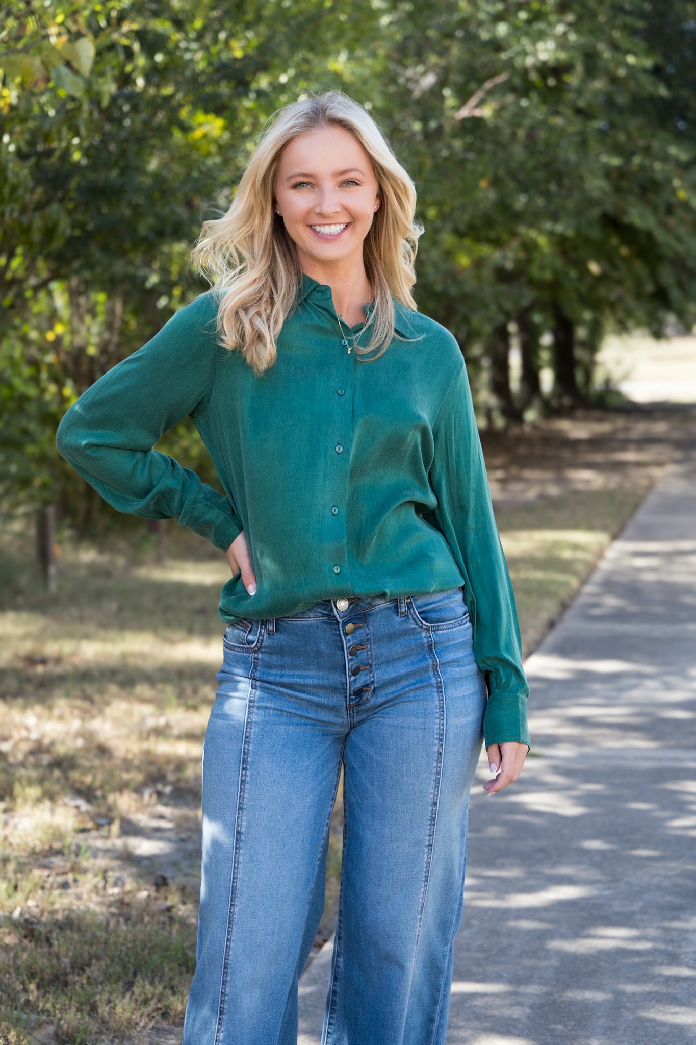
<path fill-rule="evenodd" d="M 465 580 L 474 656 L 488 684 L 485 746 L 530 746 L 529 687 L 512 584 L 496 526 L 466 368 L 450 386 L 433 424 L 431 484 L 437 522 Z"/>

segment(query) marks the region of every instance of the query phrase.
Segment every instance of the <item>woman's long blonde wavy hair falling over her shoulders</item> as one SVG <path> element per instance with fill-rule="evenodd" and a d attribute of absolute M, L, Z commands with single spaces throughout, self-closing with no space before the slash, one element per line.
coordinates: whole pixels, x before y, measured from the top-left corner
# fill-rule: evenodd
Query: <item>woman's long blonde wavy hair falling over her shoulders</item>
<path fill-rule="evenodd" d="M 218 293 L 221 343 L 238 349 L 257 375 L 277 358 L 275 339 L 294 309 L 302 270 L 293 241 L 275 214 L 281 153 L 299 134 L 338 124 L 355 135 L 373 164 L 381 205 L 363 243 L 375 305 L 369 344 L 378 355 L 394 336 L 392 297 L 415 310 L 411 296 L 423 227 L 415 220 L 415 187 L 371 116 L 342 91 L 314 93 L 280 109 L 266 122 L 227 212 L 205 222 L 191 263 Z M 375 359 L 378 355 L 373 356 Z M 371 361 L 369 361 L 371 362 Z"/>

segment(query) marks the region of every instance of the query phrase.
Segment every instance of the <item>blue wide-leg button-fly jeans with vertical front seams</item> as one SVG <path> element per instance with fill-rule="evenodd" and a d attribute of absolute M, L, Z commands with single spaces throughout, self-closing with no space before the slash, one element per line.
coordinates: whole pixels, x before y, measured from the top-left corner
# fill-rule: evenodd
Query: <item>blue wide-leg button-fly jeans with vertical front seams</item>
<path fill-rule="evenodd" d="M 341 763 L 322 1045 L 445 1043 L 486 703 L 472 624 L 461 588 L 338 603 L 224 633 L 183 1045 L 295 1045 Z"/>

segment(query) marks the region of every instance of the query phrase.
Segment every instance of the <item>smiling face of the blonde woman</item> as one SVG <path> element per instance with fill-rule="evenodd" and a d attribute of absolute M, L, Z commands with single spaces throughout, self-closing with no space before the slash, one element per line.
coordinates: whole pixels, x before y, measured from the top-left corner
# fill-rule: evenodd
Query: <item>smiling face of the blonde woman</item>
<path fill-rule="evenodd" d="M 362 261 L 363 240 L 380 206 L 367 153 L 336 124 L 297 135 L 281 154 L 273 206 L 304 272 Z"/>

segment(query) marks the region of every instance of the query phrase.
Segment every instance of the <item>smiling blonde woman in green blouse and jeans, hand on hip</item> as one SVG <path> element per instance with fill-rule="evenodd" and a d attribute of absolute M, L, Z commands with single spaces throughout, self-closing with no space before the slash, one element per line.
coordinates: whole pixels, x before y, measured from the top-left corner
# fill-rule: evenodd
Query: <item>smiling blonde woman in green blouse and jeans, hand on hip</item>
<path fill-rule="evenodd" d="M 529 747 L 466 370 L 411 297 L 413 183 L 337 91 L 266 126 L 193 259 L 211 289 L 71 408 L 61 452 L 232 578 L 203 745 L 184 1045 L 290 1045 L 345 830 L 325 1045 L 442 1045 L 470 789 Z M 224 489 L 152 449 L 190 416 Z"/>

